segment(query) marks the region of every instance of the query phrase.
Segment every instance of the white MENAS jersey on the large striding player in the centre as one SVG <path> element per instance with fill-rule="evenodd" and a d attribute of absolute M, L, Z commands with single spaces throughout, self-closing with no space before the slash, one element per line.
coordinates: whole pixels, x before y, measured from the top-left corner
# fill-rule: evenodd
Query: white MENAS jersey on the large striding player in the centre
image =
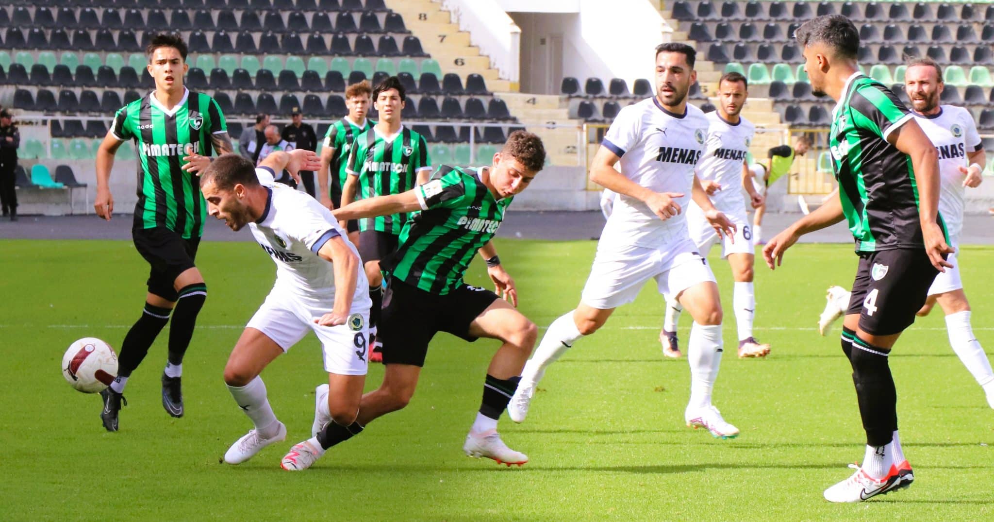
<path fill-rule="evenodd" d="M 683 194 L 675 201 L 686 208 L 707 134 L 700 108 L 687 104 L 684 114 L 673 114 L 651 97 L 622 108 L 602 144 L 621 158 L 625 177 L 655 192 Z M 656 249 L 687 237 L 683 213 L 663 221 L 641 201 L 619 194 L 600 243 Z"/>

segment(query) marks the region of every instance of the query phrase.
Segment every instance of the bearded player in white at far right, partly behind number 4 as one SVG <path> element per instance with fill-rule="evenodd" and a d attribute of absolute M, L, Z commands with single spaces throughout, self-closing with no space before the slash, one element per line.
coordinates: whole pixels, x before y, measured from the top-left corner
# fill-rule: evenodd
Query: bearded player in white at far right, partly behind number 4
<path fill-rule="evenodd" d="M 987 157 L 970 112 L 955 105 L 939 104 L 943 87 L 942 72 L 934 62 L 928 59 L 909 62 L 905 90 L 911 98 L 918 126 L 938 152 L 941 174 L 938 212 L 949 231 L 949 246 L 958 248 L 963 230 L 963 193 L 967 187 L 977 187 L 983 181 L 981 165 Z M 994 371 L 970 325 L 970 303 L 963 292 L 956 254 L 950 254 L 947 261 L 952 267 L 935 276 L 928 288 L 928 299 L 917 314 L 927 315 L 936 302 L 942 307 L 952 350 L 983 388 L 987 404 L 994 408 Z M 850 292 L 841 286 L 828 289 L 828 302 L 818 321 L 822 335 L 849 307 L 849 297 Z"/>

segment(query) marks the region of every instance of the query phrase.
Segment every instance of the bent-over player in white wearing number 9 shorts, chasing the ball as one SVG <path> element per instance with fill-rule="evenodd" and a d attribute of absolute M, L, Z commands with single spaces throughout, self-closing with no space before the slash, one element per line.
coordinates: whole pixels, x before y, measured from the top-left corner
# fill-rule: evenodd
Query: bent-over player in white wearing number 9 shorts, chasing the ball
<path fill-rule="evenodd" d="M 371 301 L 359 253 L 331 211 L 303 192 L 273 183 L 276 172 L 317 170 L 312 151 L 273 152 L 254 168 L 225 154 L 201 175 L 208 214 L 232 230 L 248 225 L 259 247 L 276 263 L 276 280 L 225 366 L 225 383 L 253 429 L 225 453 L 244 462 L 286 437 L 266 399 L 259 373 L 308 332 L 321 341 L 328 384 L 317 390 L 316 408 L 349 426 L 359 412 L 368 364 Z M 313 430 L 313 429 L 312 429 Z"/>

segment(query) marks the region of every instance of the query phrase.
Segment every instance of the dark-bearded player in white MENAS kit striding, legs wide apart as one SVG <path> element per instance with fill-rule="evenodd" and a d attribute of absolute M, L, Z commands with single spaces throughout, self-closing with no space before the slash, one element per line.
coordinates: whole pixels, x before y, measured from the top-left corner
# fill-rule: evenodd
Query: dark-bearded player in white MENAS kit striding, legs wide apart
<path fill-rule="evenodd" d="M 685 44 L 657 47 L 656 95 L 622 108 L 593 158 L 590 180 L 618 197 L 600 235 L 580 305 L 549 326 L 525 365 L 508 406 L 515 422 L 524 421 L 547 367 L 580 337 L 603 326 L 614 308 L 635 300 L 646 281 L 655 279 L 660 293 L 676 297 L 694 316 L 688 347 L 688 426 L 722 438 L 739 434 L 711 404 L 722 357 L 722 305 L 715 276 L 691 241 L 682 212 L 693 192 L 716 230 L 734 234 L 735 226 L 715 209 L 694 175 L 708 132 L 704 113 L 687 103 L 687 91 L 697 81 L 694 58 L 694 49 Z M 620 163 L 620 172 L 615 163 Z"/>

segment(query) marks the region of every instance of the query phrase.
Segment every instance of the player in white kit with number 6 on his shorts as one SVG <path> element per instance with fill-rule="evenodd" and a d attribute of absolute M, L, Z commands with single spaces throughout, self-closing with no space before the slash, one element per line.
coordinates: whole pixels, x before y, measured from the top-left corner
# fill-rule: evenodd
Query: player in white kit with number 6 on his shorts
<path fill-rule="evenodd" d="M 749 195 L 752 208 L 762 205 L 762 195 L 752 185 L 752 176 L 745 155 L 752 143 L 755 126 L 740 115 L 748 97 L 747 82 L 739 73 L 728 73 L 718 82 L 718 108 L 709 112 L 706 150 L 695 170 L 701 186 L 711 197 L 715 208 L 736 225 L 734 237 L 721 237 L 712 228 L 701 207 L 691 202 L 687 208 L 690 238 L 698 252 L 707 258 L 712 247 L 721 245 L 722 258 L 729 261 L 735 279 L 732 307 L 739 330 L 739 357 L 765 357 L 768 344 L 760 344 L 752 336 L 755 315 L 755 293 L 752 286 L 752 264 L 755 254 L 743 191 Z M 666 299 L 666 317 L 659 341 L 663 355 L 680 357 L 677 324 L 683 307 L 672 296 Z"/>

